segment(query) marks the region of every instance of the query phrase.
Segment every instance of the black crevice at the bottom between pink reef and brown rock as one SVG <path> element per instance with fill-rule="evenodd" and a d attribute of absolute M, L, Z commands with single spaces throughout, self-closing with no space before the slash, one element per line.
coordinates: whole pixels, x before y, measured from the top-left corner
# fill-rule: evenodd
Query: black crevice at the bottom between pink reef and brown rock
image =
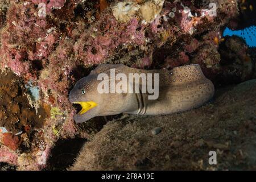
<path fill-rule="evenodd" d="M 65 170 L 72 166 L 86 139 L 60 139 L 52 148 L 46 170 Z"/>

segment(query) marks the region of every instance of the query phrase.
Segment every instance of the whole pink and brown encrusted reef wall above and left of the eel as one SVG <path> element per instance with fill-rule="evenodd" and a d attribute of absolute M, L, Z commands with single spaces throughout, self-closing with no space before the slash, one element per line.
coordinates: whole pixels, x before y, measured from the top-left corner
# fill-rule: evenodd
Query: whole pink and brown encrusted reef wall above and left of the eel
<path fill-rule="evenodd" d="M 13 102 L 0 110 L 0 127 L 11 132 L 0 132 L 1 162 L 42 169 L 57 140 L 93 138 L 106 119 L 76 125 L 68 93 L 99 63 L 145 69 L 197 63 L 217 86 L 233 76 L 237 82 L 253 77 L 250 48 L 239 38 L 222 38 L 222 27 L 238 16 L 237 2 L 211 2 L 217 16 L 209 1 L 1 1 L 0 67 L 23 85 L 1 88 L 3 103 Z"/>

